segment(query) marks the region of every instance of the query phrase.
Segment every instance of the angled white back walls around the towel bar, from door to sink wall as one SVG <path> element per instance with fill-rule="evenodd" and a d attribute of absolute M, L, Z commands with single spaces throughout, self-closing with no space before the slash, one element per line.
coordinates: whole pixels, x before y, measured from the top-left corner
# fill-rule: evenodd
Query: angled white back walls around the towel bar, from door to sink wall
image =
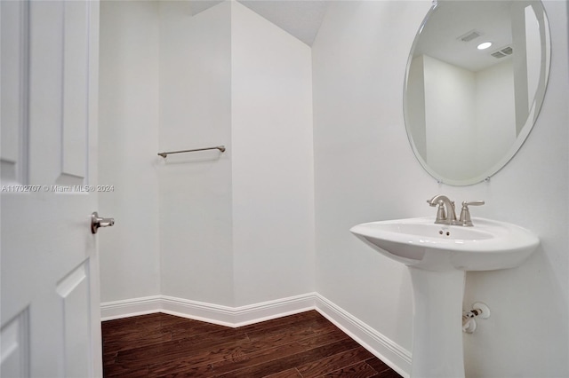
<path fill-rule="evenodd" d="M 102 302 L 312 292 L 310 49 L 241 4 L 189 6 L 102 4 Z"/>

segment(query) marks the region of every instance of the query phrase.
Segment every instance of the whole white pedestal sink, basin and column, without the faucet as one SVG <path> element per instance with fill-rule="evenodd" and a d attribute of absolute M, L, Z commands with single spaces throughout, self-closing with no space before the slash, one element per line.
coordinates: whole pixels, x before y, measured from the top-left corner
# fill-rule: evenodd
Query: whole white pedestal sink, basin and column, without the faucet
<path fill-rule="evenodd" d="M 412 377 L 464 377 L 462 299 L 467 271 L 522 264 L 538 238 L 515 224 L 473 218 L 473 227 L 430 217 L 357 224 L 359 239 L 408 266 L 413 284 Z"/>

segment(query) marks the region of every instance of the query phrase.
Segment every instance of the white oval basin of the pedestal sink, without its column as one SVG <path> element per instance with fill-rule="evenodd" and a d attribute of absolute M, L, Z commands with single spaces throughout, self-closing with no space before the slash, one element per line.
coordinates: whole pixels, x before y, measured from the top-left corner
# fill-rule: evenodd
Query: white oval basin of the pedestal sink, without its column
<path fill-rule="evenodd" d="M 522 264 L 539 239 L 515 224 L 473 218 L 473 227 L 432 217 L 357 224 L 349 231 L 400 263 L 429 271 L 493 271 Z"/>

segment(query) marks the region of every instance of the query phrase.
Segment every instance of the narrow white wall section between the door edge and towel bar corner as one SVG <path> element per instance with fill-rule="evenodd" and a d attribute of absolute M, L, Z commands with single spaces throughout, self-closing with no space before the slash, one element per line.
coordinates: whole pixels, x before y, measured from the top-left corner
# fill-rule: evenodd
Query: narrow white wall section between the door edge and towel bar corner
<path fill-rule="evenodd" d="M 102 302 L 160 292 L 157 3 L 100 3 L 100 232 Z"/>

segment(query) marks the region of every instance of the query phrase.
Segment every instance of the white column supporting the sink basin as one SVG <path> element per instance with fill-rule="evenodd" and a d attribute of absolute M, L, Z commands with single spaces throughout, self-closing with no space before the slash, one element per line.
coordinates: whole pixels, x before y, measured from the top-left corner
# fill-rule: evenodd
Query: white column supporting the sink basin
<path fill-rule="evenodd" d="M 413 283 L 411 377 L 464 377 L 462 299 L 466 273 L 408 268 Z"/>

